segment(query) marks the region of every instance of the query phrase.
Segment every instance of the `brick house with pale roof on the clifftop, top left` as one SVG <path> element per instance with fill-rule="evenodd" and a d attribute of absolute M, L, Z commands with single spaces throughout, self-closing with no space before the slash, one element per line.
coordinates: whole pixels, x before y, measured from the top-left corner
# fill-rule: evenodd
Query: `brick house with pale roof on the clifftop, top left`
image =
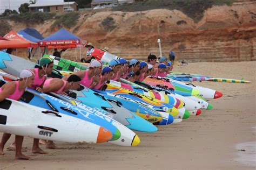
<path fill-rule="evenodd" d="M 30 12 L 70 12 L 77 11 L 76 2 L 64 2 L 64 0 L 38 0 L 35 4 L 29 5 Z"/>

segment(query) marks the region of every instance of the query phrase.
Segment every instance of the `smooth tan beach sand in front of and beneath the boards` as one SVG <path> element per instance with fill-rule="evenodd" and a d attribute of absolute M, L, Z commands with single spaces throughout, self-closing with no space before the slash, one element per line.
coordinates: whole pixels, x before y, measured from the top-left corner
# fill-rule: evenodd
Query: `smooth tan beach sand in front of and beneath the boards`
<path fill-rule="evenodd" d="M 255 69 L 255 61 L 174 66 L 175 72 L 231 79 L 244 77 L 253 83 L 194 82 L 219 90 L 224 96 L 211 100 L 214 108 L 202 110 L 199 116 L 159 126 L 155 133 L 137 132 L 141 140 L 137 147 L 56 142 L 63 148 L 45 149 L 49 154 L 41 155 L 31 153 L 32 139 L 26 137 L 24 154 L 32 160 L 14 160 L 15 152 L 6 151 L 14 140 L 12 136 L 6 144 L 5 155 L 0 155 L 0 169 L 255 169 L 255 146 L 249 156 L 252 161 L 242 161 L 248 152 L 242 143 L 254 145 L 256 142 Z"/>

